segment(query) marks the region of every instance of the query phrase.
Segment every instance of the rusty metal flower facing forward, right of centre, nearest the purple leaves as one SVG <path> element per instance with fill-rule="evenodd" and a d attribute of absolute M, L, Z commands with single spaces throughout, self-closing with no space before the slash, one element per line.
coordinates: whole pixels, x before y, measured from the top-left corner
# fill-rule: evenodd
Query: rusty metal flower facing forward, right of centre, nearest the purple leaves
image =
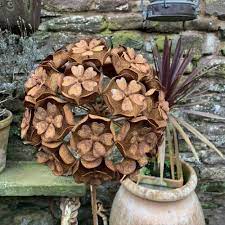
<path fill-rule="evenodd" d="M 113 108 L 114 114 L 137 116 L 146 108 L 143 86 L 131 80 L 129 83 L 124 77 L 113 80 L 106 90 L 106 97 Z"/>

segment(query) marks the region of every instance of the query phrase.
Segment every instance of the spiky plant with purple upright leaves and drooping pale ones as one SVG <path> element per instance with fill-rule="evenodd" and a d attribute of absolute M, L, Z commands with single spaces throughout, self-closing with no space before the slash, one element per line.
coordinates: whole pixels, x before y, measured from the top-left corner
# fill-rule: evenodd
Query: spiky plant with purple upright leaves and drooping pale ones
<path fill-rule="evenodd" d="M 195 82 L 198 81 L 204 74 L 209 73 L 210 71 L 218 68 L 220 65 L 210 65 L 209 61 L 205 61 L 204 63 L 202 63 L 202 66 L 196 67 L 191 74 L 189 74 L 188 76 L 184 76 L 187 66 L 189 65 L 189 63 L 191 63 L 193 56 L 191 49 L 187 52 L 182 49 L 181 38 L 179 38 L 176 44 L 174 54 L 172 54 L 172 41 L 166 37 L 164 41 L 162 55 L 160 55 L 159 49 L 156 46 L 153 49 L 153 56 L 156 73 L 165 93 L 165 100 L 169 103 L 170 107 L 168 128 L 166 133 L 166 139 L 168 141 L 170 149 L 169 153 L 172 154 L 171 152 L 173 152 L 174 149 L 176 151 L 178 150 L 177 133 L 179 133 L 179 135 L 187 143 L 190 150 L 193 152 L 197 161 L 199 161 L 196 149 L 192 141 L 190 140 L 189 135 L 186 133 L 186 131 L 189 131 L 196 138 L 198 138 L 208 147 L 216 151 L 222 158 L 224 158 L 221 151 L 219 151 L 212 142 L 210 142 L 203 134 L 201 134 L 187 121 L 184 121 L 182 118 L 176 116 L 176 114 L 173 113 L 176 110 L 172 110 L 173 108 L 178 108 L 179 110 L 181 109 L 181 107 L 187 106 L 188 104 L 185 104 L 185 100 L 187 100 L 190 96 L 191 98 L 194 98 L 195 95 L 201 96 L 202 93 L 196 90 L 196 87 L 194 85 Z M 197 88 L 199 89 L 199 86 Z M 198 103 L 196 102 L 193 105 L 196 104 Z M 195 114 L 208 118 L 225 120 L 225 118 L 210 113 L 199 112 L 194 110 L 186 110 L 186 112 L 188 114 Z M 171 134 L 171 132 L 173 133 L 173 135 Z M 173 145 L 171 145 L 172 140 L 174 141 Z M 171 149 L 173 149 L 173 151 L 171 151 Z M 173 157 L 170 158 L 173 159 Z M 165 158 L 161 157 L 161 159 L 159 159 L 160 164 L 164 164 L 164 160 Z M 173 170 L 173 165 L 174 162 L 171 161 L 171 172 Z M 161 173 L 163 174 L 163 169 L 161 169 Z"/>

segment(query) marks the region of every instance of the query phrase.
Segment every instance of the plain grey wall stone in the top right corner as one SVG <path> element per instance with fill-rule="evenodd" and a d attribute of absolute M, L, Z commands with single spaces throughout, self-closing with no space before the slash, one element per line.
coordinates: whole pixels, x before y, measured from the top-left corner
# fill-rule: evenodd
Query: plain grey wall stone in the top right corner
<path fill-rule="evenodd" d="M 219 19 L 225 19 L 224 0 L 206 0 L 206 13 L 218 16 Z"/>

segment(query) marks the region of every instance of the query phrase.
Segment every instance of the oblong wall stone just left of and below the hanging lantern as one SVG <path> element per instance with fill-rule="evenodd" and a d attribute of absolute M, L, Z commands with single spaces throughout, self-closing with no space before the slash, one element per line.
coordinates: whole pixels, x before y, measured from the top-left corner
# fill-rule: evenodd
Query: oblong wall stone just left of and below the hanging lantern
<path fill-rule="evenodd" d="M 108 14 L 109 30 L 139 30 L 143 27 L 143 19 L 138 13 Z"/>

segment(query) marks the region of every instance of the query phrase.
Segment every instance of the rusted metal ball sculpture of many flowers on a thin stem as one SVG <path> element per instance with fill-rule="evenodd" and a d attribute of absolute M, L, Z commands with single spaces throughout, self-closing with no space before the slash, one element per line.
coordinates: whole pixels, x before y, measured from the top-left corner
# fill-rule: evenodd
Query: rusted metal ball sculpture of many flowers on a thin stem
<path fill-rule="evenodd" d="M 91 185 L 92 194 L 157 155 L 169 105 L 153 66 L 132 48 L 70 44 L 35 69 L 25 91 L 21 137 L 38 147 L 39 163 Z"/>

